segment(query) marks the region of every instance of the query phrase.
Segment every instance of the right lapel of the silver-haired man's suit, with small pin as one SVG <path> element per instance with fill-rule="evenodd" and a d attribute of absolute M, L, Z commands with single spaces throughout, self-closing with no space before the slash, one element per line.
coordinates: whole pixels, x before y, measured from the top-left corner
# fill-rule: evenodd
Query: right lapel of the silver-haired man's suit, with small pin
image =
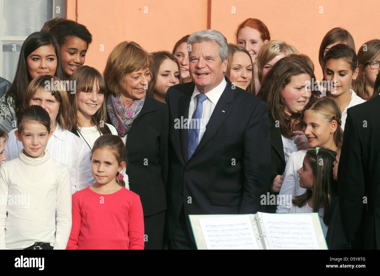
<path fill-rule="evenodd" d="M 227 77 L 225 77 L 225 80 L 227 81 L 226 88 L 220 96 L 219 101 L 215 105 L 214 111 L 212 112 L 210 120 L 207 123 L 206 131 L 204 132 L 193 156 L 207 143 L 207 141 L 211 138 L 211 136 L 215 133 L 223 121 L 226 120 L 232 111 L 232 108 L 229 107 L 228 104 L 234 101 L 234 91 L 231 89 L 232 83 L 230 80 L 228 80 Z"/>

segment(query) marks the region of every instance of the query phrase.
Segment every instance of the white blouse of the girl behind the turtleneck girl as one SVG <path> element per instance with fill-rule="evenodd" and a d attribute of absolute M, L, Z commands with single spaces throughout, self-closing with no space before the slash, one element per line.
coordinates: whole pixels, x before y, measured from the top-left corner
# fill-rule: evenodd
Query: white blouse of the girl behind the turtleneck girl
<path fill-rule="evenodd" d="M 7 160 L 17 158 L 24 148 L 17 140 L 13 129 L 8 133 L 5 143 L 5 156 Z M 57 123 L 46 145 L 50 156 L 58 162 L 67 165 L 71 175 L 71 193 L 87 188 L 96 182 L 91 174 L 90 148 L 75 134 L 68 130 L 62 130 Z"/>

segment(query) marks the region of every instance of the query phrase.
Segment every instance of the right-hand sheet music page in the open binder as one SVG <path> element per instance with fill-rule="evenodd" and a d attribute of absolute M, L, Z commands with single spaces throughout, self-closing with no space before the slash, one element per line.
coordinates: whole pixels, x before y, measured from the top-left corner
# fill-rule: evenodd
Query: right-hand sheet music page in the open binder
<path fill-rule="evenodd" d="M 269 249 L 319 249 L 311 214 L 262 213 Z"/>

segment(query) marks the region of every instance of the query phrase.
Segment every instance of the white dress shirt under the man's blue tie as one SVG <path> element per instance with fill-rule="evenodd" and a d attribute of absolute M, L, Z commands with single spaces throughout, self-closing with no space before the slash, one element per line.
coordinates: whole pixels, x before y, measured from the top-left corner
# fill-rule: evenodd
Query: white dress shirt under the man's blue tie
<path fill-rule="evenodd" d="M 223 78 L 222 82 L 215 87 L 214 89 L 211 89 L 209 92 L 207 92 L 205 95 L 207 96 L 207 99 L 203 102 L 203 113 L 202 113 L 202 120 L 201 120 L 201 126 L 199 129 L 199 139 L 198 144 L 201 141 L 204 132 L 206 131 L 207 123 L 209 122 L 212 112 L 214 111 L 215 105 L 219 101 L 220 96 L 222 96 L 222 93 L 224 89 L 227 86 L 226 80 Z M 189 105 L 189 114 L 188 119 L 189 121 L 193 117 L 193 113 L 196 108 L 197 99 L 196 95 L 200 94 L 198 88 L 195 86 L 194 92 L 190 99 L 190 105 Z"/>

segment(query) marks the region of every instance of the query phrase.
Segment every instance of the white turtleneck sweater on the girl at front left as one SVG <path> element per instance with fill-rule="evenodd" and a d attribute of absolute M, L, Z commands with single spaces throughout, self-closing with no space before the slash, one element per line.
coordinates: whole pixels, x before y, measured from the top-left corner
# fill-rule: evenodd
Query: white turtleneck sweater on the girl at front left
<path fill-rule="evenodd" d="M 25 249 L 34 242 L 66 249 L 71 231 L 69 169 L 46 149 L 41 158 L 23 151 L 0 168 L 0 249 Z"/>

